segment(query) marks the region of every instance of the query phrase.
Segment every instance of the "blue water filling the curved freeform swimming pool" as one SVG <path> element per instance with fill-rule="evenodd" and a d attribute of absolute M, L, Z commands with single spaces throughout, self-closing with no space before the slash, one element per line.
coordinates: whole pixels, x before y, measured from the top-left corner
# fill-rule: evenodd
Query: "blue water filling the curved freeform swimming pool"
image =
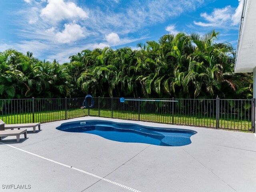
<path fill-rule="evenodd" d="M 63 123 L 58 130 L 82 132 L 119 141 L 146 143 L 159 146 L 184 146 L 191 143 L 190 137 L 196 134 L 193 130 L 155 129 L 137 124 L 115 123 L 100 120 L 83 120 Z"/>

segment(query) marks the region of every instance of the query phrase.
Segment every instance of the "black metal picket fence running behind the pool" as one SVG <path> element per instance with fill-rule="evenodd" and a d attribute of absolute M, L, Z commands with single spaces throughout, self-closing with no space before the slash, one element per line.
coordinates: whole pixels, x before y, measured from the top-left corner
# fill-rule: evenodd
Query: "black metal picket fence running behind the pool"
<path fill-rule="evenodd" d="M 80 109 L 84 98 L 0 100 L 0 118 L 15 124 L 98 116 L 255 132 L 255 99 L 130 99 L 97 97 L 90 109 Z"/>

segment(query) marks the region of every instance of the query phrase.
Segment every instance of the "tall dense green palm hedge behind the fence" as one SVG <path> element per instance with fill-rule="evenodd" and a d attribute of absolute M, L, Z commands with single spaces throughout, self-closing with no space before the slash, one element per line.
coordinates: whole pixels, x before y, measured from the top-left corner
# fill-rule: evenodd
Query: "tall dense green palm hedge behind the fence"
<path fill-rule="evenodd" d="M 0 52 L 0 98 L 251 98 L 252 74 L 234 73 L 234 48 L 217 38 L 214 30 L 166 34 L 138 50 L 82 50 L 62 65 L 6 50 Z"/>

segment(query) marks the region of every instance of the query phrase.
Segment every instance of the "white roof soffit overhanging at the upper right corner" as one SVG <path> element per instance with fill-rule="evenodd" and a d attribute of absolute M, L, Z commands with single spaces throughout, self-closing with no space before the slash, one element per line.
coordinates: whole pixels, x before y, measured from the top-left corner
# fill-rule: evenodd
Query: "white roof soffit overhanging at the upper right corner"
<path fill-rule="evenodd" d="M 256 0 L 244 0 L 236 52 L 235 72 L 252 72 L 256 67 Z"/>

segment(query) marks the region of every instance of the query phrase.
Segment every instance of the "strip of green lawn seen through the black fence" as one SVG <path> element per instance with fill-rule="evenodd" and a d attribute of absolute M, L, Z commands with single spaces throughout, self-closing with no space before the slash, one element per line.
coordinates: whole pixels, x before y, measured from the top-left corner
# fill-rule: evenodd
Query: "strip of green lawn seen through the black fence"
<path fill-rule="evenodd" d="M 34 122 L 52 122 L 58 120 L 65 120 L 88 116 L 88 109 L 73 109 L 68 110 L 59 110 L 59 111 L 48 111 L 34 114 Z M 99 111 L 97 109 L 90 109 L 90 116 L 99 116 Z M 137 112 L 120 112 L 111 110 L 100 110 L 100 117 L 108 118 L 118 118 L 126 120 L 139 120 Z M 13 114 L 13 115 L 0 115 L 0 118 L 6 122 L 6 124 L 15 124 L 15 123 L 30 123 L 33 122 L 32 113 L 26 114 Z M 147 122 L 157 122 L 157 123 L 166 123 L 172 124 L 172 115 L 169 114 L 140 114 L 141 121 Z M 181 116 L 174 114 L 173 118 L 174 124 L 179 125 L 189 125 L 189 126 L 203 126 L 203 127 L 212 127 L 216 128 L 216 119 L 215 118 L 204 118 L 200 116 Z M 220 128 L 228 128 L 234 130 L 249 131 L 251 129 L 251 122 L 248 120 L 234 120 L 234 119 L 220 119 Z"/>

